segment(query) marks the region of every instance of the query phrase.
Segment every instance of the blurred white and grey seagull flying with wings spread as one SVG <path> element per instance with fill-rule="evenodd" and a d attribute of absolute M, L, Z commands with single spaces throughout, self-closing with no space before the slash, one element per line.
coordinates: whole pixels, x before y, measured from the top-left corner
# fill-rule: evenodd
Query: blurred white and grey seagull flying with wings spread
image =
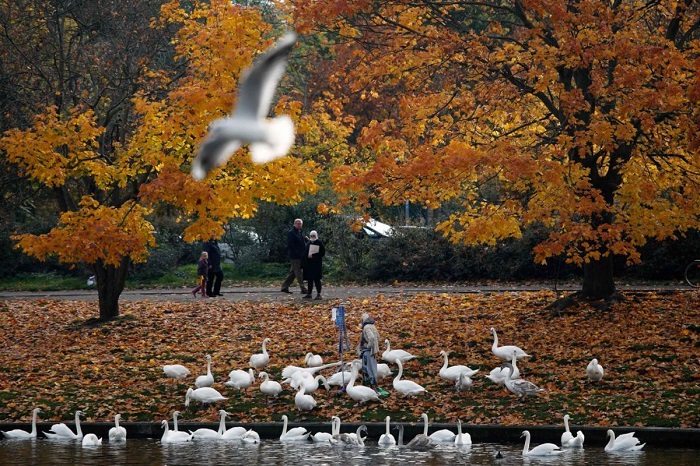
<path fill-rule="evenodd" d="M 294 143 L 294 123 L 287 115 L 266 120 L 275 89 L 296 42 L 288 32 L 243 72 L 238 103 L 230 116 L 215 120 L 192 164 L 192 176 L 201 180 L 223 165 L 242 145 L 249 144 L 253 163 L 266 163 L 287 154 Z"/>

